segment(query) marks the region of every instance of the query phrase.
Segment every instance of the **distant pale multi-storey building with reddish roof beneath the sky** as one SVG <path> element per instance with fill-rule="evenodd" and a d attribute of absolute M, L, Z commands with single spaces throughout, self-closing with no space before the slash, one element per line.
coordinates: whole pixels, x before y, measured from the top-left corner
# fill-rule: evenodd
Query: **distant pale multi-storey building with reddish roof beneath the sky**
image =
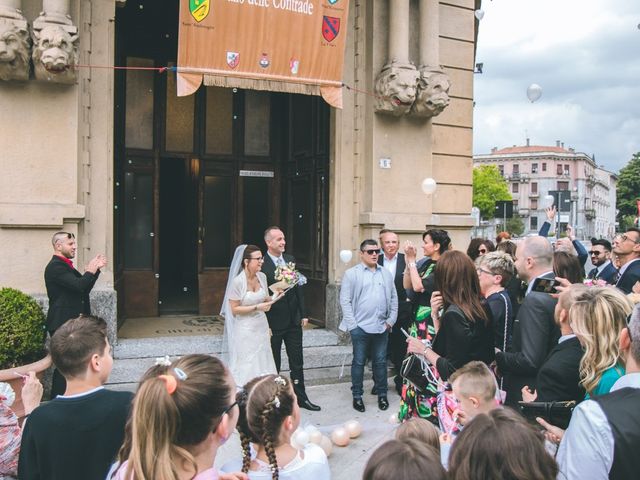
<path fill-rule="evenodd" d="M 475 155 L 474 166 L 496 165 L 509 184 L 514 215 L 522 218 L 525 234 L 536 233 L 546 220 L 545 197 L 569 191 L 571 211 L 560 213 L 560 229 L 573 225 L 580 239 L 611 238 L 615 233 L 615 174 L 599 167 L 595 157 L 557 141 L 555 146 L 493 148 Z"/>

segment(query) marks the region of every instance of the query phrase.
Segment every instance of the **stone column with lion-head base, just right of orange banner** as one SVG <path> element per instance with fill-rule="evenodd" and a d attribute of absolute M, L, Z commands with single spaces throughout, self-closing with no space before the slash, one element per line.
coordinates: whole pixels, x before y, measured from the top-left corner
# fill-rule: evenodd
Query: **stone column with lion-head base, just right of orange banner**
<path fill-rule="evenodd" d="M 416 99 L 419 75 L 409 61 L 409 0 L 389 0 L 389 7 L 389 54 L 376 77 L 375 111 L 399 117 Z"/>

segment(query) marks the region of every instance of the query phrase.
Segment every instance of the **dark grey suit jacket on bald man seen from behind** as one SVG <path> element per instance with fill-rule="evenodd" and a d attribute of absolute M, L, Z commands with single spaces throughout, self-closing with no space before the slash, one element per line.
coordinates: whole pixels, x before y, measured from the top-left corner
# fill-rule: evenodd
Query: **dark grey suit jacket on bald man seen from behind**
<path fill-rule="evenodd" d="M 553 274 L 545 278 L 553 278 Z M 513 323 L 513 351 L 496 354 L 498 368 L 505 378 L 508 405 L 517 405 L 522 400 L 525 385 L 536 388 L 538 370 L 560 338 L 553 319 L 556 303 L 548 293 L 529 293 Z"/>

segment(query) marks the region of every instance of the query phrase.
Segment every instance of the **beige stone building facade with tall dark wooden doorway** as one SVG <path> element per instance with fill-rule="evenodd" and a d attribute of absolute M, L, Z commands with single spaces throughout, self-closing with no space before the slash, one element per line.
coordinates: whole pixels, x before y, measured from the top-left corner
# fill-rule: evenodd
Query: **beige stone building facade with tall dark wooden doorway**
<path fill-rule="evenodd" d="M 43 296 L 51 235 L 73 232 L 77 265 L 110 260 L 93 300 L 113 339 L 116 319 L 167 313 L 180 292 L 178 310 L 184 300 L 215 313 L 235 245 L 280 224 L 310 279 L 311 316 L 334 328 L 337 287 L 363 238 L 391 228 L 420 241 L 437 226 L 466 248 L 479 4 L 351 0 L 337 110 L 319 97 L 215 87 L 178 99 L 171 72 L 114 71 L 175 64 L 178 0 L 0 0 L 2 32 L 29 59 L 26 76 L 0 65 L 0 240 L 11 245 L 0 286 Z M 60 58 L 43 47 L 47 35 Z M 395 68 L 411 80 L 385 79 Z M 407 93 L 392 102 L 406 111 L 379 103 Z M 296 128 L 310 116 L 307 139 Z M 245 134 L 260 119 L 270 144 Z M 228 154 L 210 151 L 212 135 Z M 254 147 L 264 155 L 249 155 Z M 427 177 L 438 183 L 429 196 Z"/>

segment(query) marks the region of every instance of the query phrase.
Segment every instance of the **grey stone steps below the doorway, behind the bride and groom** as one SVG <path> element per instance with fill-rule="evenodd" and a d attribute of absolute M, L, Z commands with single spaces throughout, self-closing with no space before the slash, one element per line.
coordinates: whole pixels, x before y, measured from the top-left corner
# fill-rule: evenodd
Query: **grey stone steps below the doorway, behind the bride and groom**
<path fill-rule="evenodd" d="M 306 335 L 306 333 L 305 333 Z M 162 356 L 178 356 L 187 353 L 216 354 L 212 348 L 192 349 L 192 351 L 168 352 L 165 350 Z M 157 352 L 157 351 L 155 351 Z M 324 345 L 305 347 L 304 351 L 305 383 L 319 385 L 350 381 L 351 346 Z M 154 353 L 156 355 L 156 353 Z M 158 355 L 160 356 L 160 355 Z M 155 356 L 116 357 L 113 370 L 109 376 L 107 385 L 114 387 L 122 385 L 125 389 L 135 386 L 142 374 L 156 361 Z M 343 369 L 344 365 L 344 369 Z M 288 373 L 289 361 L 286 352 L 282 353 L 282 372 Z M 341 376 L 342 373 L 342 376 Z"/>

